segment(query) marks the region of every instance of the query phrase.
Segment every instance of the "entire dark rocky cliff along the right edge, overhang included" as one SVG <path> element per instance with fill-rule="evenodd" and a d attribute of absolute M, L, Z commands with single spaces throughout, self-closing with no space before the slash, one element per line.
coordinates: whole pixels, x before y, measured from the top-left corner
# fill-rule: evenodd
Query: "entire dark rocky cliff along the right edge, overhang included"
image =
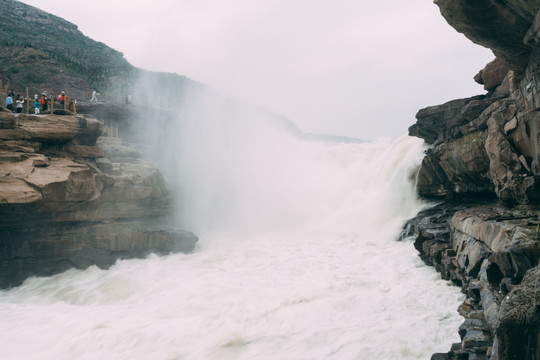
<path fill-rule="evenodd" d="M 422 109 L 431 145 L 410 222 L 420 256 L 462 286 L 461 343 L 433 359 L 540 359 L 540 1 L 435 0 L 458 32 L 493 50 L 487 94 Z"/>

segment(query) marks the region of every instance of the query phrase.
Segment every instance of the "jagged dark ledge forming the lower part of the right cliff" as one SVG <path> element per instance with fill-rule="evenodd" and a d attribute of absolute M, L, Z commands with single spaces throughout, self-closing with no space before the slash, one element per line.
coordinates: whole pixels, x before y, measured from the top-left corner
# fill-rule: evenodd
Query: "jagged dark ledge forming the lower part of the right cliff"
<path fill-rule="evenodd" d="M 433 359 L 533 359 L 540 342 L 538 215 L 532 208 L 445 203 L 411 220 L 420 257 L 467 295 L 461 342 Z"/>

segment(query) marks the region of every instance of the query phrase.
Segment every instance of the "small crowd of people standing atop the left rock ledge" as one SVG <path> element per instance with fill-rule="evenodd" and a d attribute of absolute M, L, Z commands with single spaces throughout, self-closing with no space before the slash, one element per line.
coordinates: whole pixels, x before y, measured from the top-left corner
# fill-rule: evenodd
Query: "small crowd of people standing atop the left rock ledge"
<path fill-rule="evenodd" d="M 10 91 L 6 97 L 6 109 L 15 112 L 15 113 L 22 113 L 23 112 L 23 105 L 24 103 L 28 101 L 28 106 L 33 102 L 34 104 L 34 114 L 38 115 L 40 113 L 44 113 L 49 110 L 49 107 L 54 106 L 54 98 L 52 94 L 49 94 L 47 96 L 46 93 L 42 93 L 41 96 L 38 94 L 34 95 L 33 101 L 30 98 L 24 98 L 20 94 L 17 94 L 15 96 L 15 93 L 13 91 Z M 56 101 L 60 104 L 60 109 L 63 110 L 75 110 L 75 104 L 77 103 L 77 100 L 74 99 L 68 99 L 65 91 L 62 91 L 58 97 L 56 98 Z M 97 96 L 96 92 L 94 91 L 92 94 L 91 102 L 95 101 L 97 102 Z"/>

